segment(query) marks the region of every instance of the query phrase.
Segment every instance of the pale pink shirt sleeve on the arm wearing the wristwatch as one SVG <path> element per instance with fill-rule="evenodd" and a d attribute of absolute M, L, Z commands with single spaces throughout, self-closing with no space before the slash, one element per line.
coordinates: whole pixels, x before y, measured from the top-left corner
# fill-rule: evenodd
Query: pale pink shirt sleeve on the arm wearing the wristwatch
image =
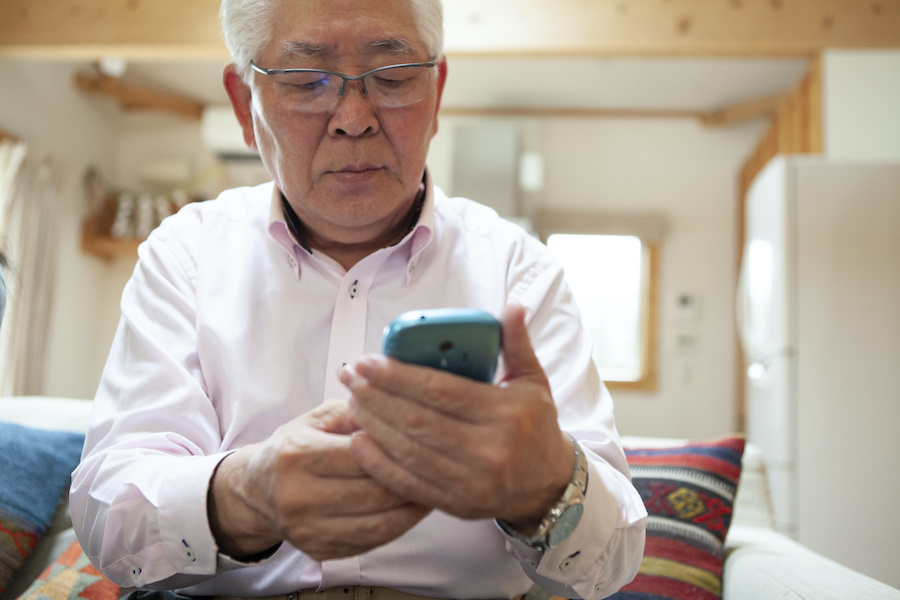
<path fill-rule="evenodd" d="M 544 256 L 515 278 L 510 300 L 526 309 L 560 428 L 585 450 L 589 474 L 584 512 L 566 540 L 542 551 L 507 536 L 507 548 L 532 581 L 551 594 L 605 598 L 637 574 L 647 511 L 631 483 L 612 398 L 597 374 L 589 334 L 561 267 Z"/>

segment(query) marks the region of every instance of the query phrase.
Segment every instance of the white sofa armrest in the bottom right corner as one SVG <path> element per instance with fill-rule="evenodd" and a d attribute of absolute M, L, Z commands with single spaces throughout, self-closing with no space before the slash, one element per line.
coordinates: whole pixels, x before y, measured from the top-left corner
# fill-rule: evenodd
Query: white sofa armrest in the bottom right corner
<path fill-rule="evenodd" d="M 722 583 L 723 600 L 900 600 L 900 590 L 781 533 L 737 524 L 728 533 Z"/>

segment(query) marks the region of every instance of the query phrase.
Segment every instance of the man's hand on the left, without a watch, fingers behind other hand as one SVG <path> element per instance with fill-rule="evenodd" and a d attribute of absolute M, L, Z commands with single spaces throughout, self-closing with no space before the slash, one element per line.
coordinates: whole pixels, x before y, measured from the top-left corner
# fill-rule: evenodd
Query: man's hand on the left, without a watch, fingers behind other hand
<path fill-rule="evenodd" d="M 219 549 L 250 558 L 288 541 L 317 560 L 360 554 L 402 535 L 430 509 L 373 481 L 350 452 L 346 402 L 329 402 L 225 458 L 208 499 Z"/>

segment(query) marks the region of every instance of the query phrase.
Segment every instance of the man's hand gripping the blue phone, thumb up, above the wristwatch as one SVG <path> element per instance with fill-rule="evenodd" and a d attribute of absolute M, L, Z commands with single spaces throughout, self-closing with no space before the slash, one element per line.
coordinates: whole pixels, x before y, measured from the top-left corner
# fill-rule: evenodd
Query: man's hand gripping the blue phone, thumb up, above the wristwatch
<path fill-rule="evenodd" d="M 341 381 L 361 428 L 351 451 L 370 477 L 409 502 L 528 533 L 562 495 L 574 455 L 523 309 L 502 321 L 499 386 L 380 356 L 345 367 Z"/>

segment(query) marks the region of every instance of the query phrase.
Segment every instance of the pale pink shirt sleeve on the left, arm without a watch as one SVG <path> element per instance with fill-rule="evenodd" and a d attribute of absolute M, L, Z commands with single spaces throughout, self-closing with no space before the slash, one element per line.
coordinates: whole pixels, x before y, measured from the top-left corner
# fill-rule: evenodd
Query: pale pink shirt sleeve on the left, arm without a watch
<path fill-rule="evenodd" d="M 168 227 L 141 246 L 123 292 L 70 494 L 91 562 L 127 587 L 167 579 L 181 587 L 229 568 L 206 514 L 210 478 L 227 453 L 197 360 L 195 273 L 187 250 L 168 243 Z"/>

